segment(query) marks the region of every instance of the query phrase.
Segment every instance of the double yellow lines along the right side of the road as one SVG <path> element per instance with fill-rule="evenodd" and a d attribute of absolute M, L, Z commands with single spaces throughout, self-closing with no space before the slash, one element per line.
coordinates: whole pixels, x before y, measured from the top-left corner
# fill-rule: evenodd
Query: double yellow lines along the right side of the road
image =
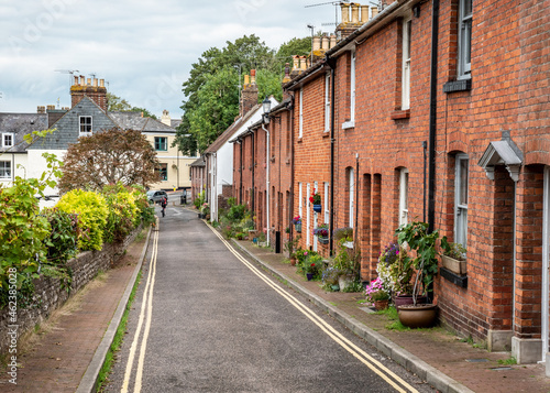
<path fill-rule="evenodd" d="M 270 285 L 275 292 L 277 292 L 280 296 L 283 296 L 288 303 L 290 303 L 294 307 L 296 307 L 300 313 L 302 313 L 306 317 L 308 317 L 314 324 L 316 324 L 322 331 L 324 331 L 332 340 L 339 343 L 342 348 L 344 348 L 348 352 L 350 352 L 353 357 L 360 360 L 363 364 L 370 368 L 373 372 L 375 372 L 378 376 L 381 376 L 384 381 L 386 381 L 389 385 L 392 385 L 399 393 L 418 393 L 418 391 L 404 381 L 400 376 L 395 374 L 392 370 L 386 368 L 382 362 L 374 359 L 372 356 L 366 353 L 364 350 L 355 346 L 352 341 L 348 340 L 344 336 L 342 336 L 339 331 L 337 331 L 332 326 L 322 320 L 319 316 L 317 316 L 309 308 L 304 306 L 296 297 L 283 291 L 278 285 L 276 285 L 267 275 L 261 272 L 256 266 L 246 261 L 240 253 L 235 251 L 235 249 L 223 237 L 218 233 L 213 228 L 210 227 L 212 232 L 226 244 L 226 247 L 231 251 L 233 255 L 237 256 L 246 268 L 249 268 L 254 274 L 256 274 L 261 280 L 263 280 L 267 285 Z M 400 386 L 399 386 L 400 385 Z"/>

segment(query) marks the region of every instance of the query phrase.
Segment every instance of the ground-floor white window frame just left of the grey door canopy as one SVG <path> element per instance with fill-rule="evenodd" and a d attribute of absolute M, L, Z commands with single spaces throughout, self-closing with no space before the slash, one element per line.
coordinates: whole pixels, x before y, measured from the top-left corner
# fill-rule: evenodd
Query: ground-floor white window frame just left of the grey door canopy
<path fill-rule="evenodd" d="M 463 178 L 462 163 L 466 163 L 465 179 Z M 468 194 L 470 177 L 470 161 L 468 154 L 457 154 L 454 165 L 454 242 L 468 247 Z M 461 192 L 465 181 L 465 204 L 462 201 Z"/>

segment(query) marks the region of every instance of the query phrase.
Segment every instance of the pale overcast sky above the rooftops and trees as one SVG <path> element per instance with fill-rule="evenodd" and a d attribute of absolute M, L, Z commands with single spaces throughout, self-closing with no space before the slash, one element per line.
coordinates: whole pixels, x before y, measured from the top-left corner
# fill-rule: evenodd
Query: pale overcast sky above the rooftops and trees
<path fill-rule="evenodd" d="M 108 81 L 132 106 L 179 118 L 182 83 L 210 47 L 244 34 L 268 47 L 333 31 L 316 0 L 0 0 L 0 111 L 70 106 L 68 70 Z M 62 72 L 56 72 L 62 70 Z"/>

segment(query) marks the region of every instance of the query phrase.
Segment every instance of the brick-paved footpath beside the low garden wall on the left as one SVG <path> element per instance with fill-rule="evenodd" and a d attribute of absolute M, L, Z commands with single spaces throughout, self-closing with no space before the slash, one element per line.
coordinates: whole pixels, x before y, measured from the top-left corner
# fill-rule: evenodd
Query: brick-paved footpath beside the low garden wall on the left
<path fill-rule="evenodd" d="M 28 353 L 20 354 L 18 385 L 0 379 L 1 392 L 75 392 L 94 358 L 140 258 L 145 240 L 134 242 L 105 281 L 88 284 L 77 309 L 58 323 Z"/>

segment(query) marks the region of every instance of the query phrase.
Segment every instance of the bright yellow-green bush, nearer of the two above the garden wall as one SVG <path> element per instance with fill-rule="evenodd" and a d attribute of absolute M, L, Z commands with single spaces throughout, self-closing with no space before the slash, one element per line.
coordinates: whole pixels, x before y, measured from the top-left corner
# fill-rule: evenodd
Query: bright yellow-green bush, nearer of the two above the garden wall
<path fill-rule="evenodd" d="M 103 196 L 92 192 L 73 189 L 59 199 L 57 207 L 66 212 L 78 214 L 81 229 L 78 237 L 80 250 L 101 250 L 103 231 L 109 216 L 109 208 Z"/>

